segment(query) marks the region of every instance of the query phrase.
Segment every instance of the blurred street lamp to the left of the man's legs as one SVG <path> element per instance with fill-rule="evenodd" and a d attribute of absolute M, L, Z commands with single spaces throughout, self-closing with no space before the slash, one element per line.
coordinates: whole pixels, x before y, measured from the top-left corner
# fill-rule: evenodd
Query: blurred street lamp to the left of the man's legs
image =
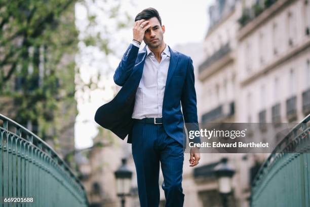
<path fill-rule="evenodd" d="M 132 177 L 132 171 L 128 169 L 126 161 L 126 158 L 123 158 L 122 165 L 114 172 L 117 184 L 117 195 L 121 197 L 122 207 L 125 206 L 125 196 L 130 195 Z"/>

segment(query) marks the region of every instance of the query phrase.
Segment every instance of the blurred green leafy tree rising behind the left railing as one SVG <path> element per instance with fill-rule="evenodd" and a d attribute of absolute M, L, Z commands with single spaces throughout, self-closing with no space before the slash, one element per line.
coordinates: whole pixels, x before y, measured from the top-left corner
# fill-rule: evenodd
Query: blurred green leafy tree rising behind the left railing
<path fill-rule="evenodd" d="M 118 19 L 121 1 L 114 1 L 116 4 L 108 11 L 105 9 L 107 2 L 0 2 L 0 113 L 7 110 L 10 118 L 24 126 L 30 122 L 32 131 L 44 140 L 55 139 L 62 130 L 74 125 L 73 119 L 60 128 L 54 127 L 57 119 L 69 109 L 70 113 L 77 113 L 76 91 L 95 90 L 100 85 L 99 78 L 87 83 L 83 81 L 76 56 L 81 56 L 78 46 L 81 44 L 85 46 L 83 49 L 95 47 L 107 56 L 113 54 L 107 30 L 96 30 L 97 14 L 90 12 L 94 4 L 103 5 L 102 9 L 110 19 Z M 89 11 L 89 33 L 79 32 L 74 24 L 76 4 Z M 118 28 L 126 26 L 130 20 L 127 17 L 125 21 L 117 20 Z"/>

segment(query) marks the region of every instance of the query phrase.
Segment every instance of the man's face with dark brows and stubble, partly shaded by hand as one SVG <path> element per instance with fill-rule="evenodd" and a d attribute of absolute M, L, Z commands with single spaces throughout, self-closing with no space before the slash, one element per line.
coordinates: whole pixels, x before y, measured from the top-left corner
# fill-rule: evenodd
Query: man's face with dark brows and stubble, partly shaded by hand
<path fill-rule="evenodd" d="M 163 44 L 165 26 L 160 24 L 156 17 L 148 19 L 151 26 L 144 32 L 144 43 L 149 48 L 158 48 Z"/>

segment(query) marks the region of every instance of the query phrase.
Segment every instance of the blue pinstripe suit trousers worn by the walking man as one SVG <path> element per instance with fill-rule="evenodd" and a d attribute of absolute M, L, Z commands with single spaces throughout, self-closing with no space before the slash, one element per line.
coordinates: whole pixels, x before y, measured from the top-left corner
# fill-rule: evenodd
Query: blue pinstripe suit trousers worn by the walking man
<path fill-rule="evenodd" d="M 183 146 L 165 132 L 163 124 L 135 122 L 132 129 L 132 154 L 137 171 L 140 206 L 159 206 L 160 163 L 166 206 L 183 206 Z"/>

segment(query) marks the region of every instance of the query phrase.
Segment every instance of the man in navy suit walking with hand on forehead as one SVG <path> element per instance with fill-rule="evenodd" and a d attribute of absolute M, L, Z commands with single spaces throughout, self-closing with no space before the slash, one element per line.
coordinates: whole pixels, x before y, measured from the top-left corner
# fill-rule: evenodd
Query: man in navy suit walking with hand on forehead
<path fill-rule="evenodd" d="M 160 163 L 166 206 L 183 206 L 184 121 L 198 129 L 192 60 L 165 44 L 164 33 L 156 9 L 136 16 L 133 42 L 113 77 L 123 87 L 95 115 L 98 124 L 121 139 L 128 134 L 141 206 L 159 206 Z M 146 46 L 139 51 L 142 40 Z M 190 142 L 200 143 L 200 137 Z M 196 166 L 199 159 L 199 149 L 191 148 L 189 166 Z"/>

